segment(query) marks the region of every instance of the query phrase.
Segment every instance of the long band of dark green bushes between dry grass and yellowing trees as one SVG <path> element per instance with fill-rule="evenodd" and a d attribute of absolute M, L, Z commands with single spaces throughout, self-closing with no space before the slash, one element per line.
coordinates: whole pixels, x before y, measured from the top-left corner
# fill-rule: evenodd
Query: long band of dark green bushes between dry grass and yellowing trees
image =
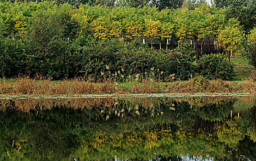
<path fill-rule="evenodd" d="M 36 45 L 43 40 L 41 36 L 40 39 L 32 36 L 35 38 L 33 43 L 30 39 L 2 40 L 0 77 L 41 75 L 54 80 L 85 77 L 94 81 L 112 77 L 116 81 L 125 81 L 137 75 L 137 78 L 170 81 L 173 77 L 187 80 L 194 70 L 189 56 L 177 51 L 154 51 L 138 40 L 127 45 L 117 39 L 95 40 L 79 35 L 69 41 L 55 39 L 58 43 L 46 44 L 47 51 L 47 48 Z"/>

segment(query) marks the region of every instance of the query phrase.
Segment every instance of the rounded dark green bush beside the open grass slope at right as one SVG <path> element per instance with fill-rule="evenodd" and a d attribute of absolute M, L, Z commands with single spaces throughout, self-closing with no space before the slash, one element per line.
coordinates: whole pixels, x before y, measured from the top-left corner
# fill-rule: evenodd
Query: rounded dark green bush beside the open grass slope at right
<path fill-rule="evenodd" d="M 203 55 L 197 62 L 197 72 L 207 79 L 232 80 L 234 65 L 223 54 Z"/>

